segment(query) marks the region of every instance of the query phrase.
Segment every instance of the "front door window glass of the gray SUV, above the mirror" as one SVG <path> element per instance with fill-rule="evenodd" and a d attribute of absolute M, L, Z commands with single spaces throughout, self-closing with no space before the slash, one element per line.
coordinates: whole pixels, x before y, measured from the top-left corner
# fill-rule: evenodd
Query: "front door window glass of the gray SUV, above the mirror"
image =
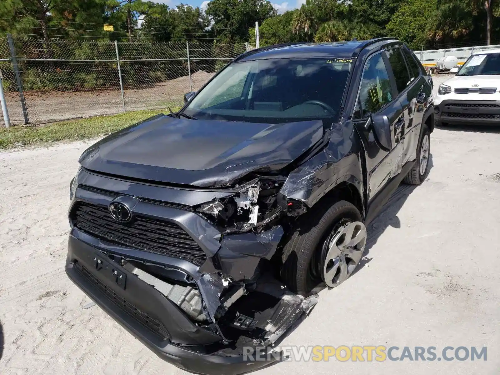
<path fill-rule="evenodd" d="M 375 113 L 392 101 L 389 75 L 383 62 L 382 54 L 371 56 L 363 71 L 359 90 L 359 103 L 355 108 L 355 116 L 365 117 L 368 112 Z"/>

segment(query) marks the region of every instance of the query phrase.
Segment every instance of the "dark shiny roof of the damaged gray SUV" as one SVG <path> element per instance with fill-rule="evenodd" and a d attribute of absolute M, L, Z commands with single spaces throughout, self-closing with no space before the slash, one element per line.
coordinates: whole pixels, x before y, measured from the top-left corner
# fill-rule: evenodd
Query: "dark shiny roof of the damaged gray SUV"
<path fill-rule="evenodd" d="M 359 51 L 368 45 L 383 44 L 395 41 L 395 38 L 376 38 L 370 40 L 349 40 L 326 43 L 287 43 L 253 49 L 243 53 L 234 61 L 259 60 L 265 58 L 293 58 L 293 57 L 343 57 L 350 58 L 358 55 Z"/>

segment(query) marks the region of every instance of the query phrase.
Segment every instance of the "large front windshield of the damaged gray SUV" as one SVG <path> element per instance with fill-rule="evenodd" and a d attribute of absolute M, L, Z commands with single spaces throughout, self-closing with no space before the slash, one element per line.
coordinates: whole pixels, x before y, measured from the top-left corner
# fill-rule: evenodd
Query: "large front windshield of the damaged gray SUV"
<path fill-rule="evenodd" d="M 184 109 L 198 119 L 292 122 L 338 112 L 352 59 L 268 59 L 235 62 Z"/>

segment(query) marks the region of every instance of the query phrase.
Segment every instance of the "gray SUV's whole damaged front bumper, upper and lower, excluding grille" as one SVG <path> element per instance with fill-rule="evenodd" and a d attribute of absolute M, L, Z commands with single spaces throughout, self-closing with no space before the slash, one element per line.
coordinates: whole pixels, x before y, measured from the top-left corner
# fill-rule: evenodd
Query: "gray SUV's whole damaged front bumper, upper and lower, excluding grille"
<path fill-rule="evenodd" d="M 234 343 L 241 341 L 237 341 L 229 329 L 232 328 L 231 319 L 238 316 L 234 310 L 241 311 L 242 306 L 238 303 L 257 292 L 259 285 L 263 285 L 264 293 L 272 295 L 275 305 L 264 310 L 269 311 L 269 316 L 258 320 L 255 328 L 263 333 L 259 335 L 261 339 L 257 340 L 256 347 L 263 345 L 268 348 L 317 300 L 291 295 L 279 282 L 272 287 L 261 276 L 261 261 L 270 260 L 274 254 L 283 235 L 281 226 L 260 233 L 222 235 L 215 226 L 188 209 L 214 196 L 231 194 L 231 191 L 191 191 L 141 184 L 94 174 L 84 168 L 78 171 L 77 181 L 69 208 L 71 225 L 75 222 L 77 207 L 82 203 L 108 207 L 111 202 L 120 201 L 130 207 L 132 215 L 175 223 L 206 254 L 202 263 L 195 264 L 182 256 L 127 247 L 126 243 L 116 238 L 105 239 L 72 225 L 66 273 L 111 317 L 162 359 L 193 373 L 236 375 L 283 359 L 281 353 L 273 353 L 250 360 L 243 356 L 243 348 L 255 349 L 252 340 L 243 340 L 243 346 L 234 349 Z M 165 201 L 170 203 L 162 203 Z M 206 324 L 194 323 L 177 304 L 121 265 L 137 261 L 178 272 L 186 277 L 186 281 L 194 282 L 207 317 Z M 226 290 L 224 282 L 228 279 L 232 281 L 229 286 L 237 283 L 257 286 L 254 286 L 255 291 L 236 300 L 230 307 L 233 308 L 230 314 L 226 312 L 219 318 L 217 308 Z M 256 295 L 261 294 L 257 292 Z M 253 304 L 248 303 L 247 306 Z M 244 315 L 244 308 L 242 311 Z"/>

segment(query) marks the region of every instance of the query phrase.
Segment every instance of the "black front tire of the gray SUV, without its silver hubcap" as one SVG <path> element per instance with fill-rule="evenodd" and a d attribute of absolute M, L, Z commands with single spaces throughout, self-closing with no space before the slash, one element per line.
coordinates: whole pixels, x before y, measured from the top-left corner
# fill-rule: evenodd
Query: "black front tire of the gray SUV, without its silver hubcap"
<path fill-rule="evenodd" d="M 299 217 L 281 256 L 281 278 L 293 292 L 307 296 L 323 283 L 315 271 L 321 266 L 321 247 L 334 226 L 346 220 L 362 221 L 357 208 L 346 200 L 327 209 L 315 207 Z"/>

